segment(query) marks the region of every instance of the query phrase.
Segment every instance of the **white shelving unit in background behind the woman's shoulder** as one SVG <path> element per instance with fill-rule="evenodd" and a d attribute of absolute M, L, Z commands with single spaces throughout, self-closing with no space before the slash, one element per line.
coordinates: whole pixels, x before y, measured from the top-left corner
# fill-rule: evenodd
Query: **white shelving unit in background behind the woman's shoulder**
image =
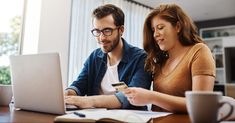
<path fill-rule="evenodd" d="M 235 83 L 235 25 L 200 29 L 216 63 L 216 85 Z"/>

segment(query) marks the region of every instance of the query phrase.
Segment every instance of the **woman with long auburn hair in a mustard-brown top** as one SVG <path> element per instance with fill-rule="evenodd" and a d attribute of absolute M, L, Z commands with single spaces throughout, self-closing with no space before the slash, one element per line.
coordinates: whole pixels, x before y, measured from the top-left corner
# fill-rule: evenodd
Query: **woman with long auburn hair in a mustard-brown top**
<path fill-rule="evenodd" d="M 153 111 L 187 112 L 185 91 L 213 91 L 215 61 L 193 21 L 176 4 L 162 4 L 144 23 L 145 69 L 153 90 L 128 88 L 133 105 L 153 104 Z"/>

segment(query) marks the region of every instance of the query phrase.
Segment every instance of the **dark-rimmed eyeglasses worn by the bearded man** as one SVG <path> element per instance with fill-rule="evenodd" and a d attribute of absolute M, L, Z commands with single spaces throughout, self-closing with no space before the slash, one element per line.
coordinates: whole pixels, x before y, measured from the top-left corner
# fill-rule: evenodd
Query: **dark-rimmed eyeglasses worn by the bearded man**
<path fill-rule="evenodd" d="M 116 28 L 104 28 L 102 30 L 99 29 L 93 29 L 91 30 L 91 33 L 95 36 L 95 37 L 99 37 L 101 35 L 101 33 L 103 33 L 104 36 L 110 36 L 113 34 L 113 31 L 119 29 L 119 27 Z"/>

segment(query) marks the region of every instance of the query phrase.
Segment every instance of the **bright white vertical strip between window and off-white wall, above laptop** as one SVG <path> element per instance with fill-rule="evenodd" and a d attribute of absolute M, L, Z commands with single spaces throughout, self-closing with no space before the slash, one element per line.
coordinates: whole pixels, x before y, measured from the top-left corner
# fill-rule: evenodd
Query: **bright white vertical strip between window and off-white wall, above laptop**
<path fill-rule="evenodd" d="M 25 0 L 22 54 L 38 52 L 41 0 Z"/>

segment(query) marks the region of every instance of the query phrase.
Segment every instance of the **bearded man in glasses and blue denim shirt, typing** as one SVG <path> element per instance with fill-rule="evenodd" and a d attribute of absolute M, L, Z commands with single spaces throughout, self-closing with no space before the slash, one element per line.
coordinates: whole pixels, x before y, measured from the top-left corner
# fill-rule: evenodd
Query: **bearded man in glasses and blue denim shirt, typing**
<path fill-rule="evenodd" d="M 131 46 L 121 37 L 124 13 L 106 4 L 96 8 L 92 17 L 91 32 L 100 48 L 91 53 L 77 80 L 66 89 L 65 102 L 80 108 L 142 109 L 132 106 L 122 92 L 115 92 L 111 86 L 123 81 L 130 87 L 149 89 L 151 84 L 151 75 L 144 71 L 144 50 Z"/>

